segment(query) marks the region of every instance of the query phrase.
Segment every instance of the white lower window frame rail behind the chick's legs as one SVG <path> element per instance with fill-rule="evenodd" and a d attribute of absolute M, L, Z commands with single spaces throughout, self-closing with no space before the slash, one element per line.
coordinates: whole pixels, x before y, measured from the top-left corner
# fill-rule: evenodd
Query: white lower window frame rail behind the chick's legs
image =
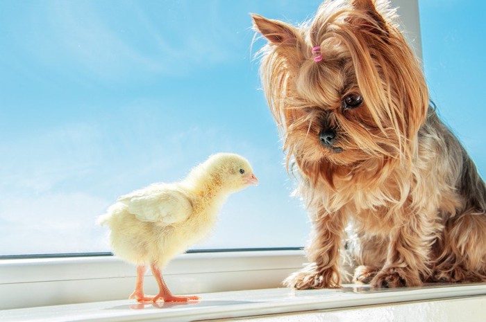
<path fill-rule="evenodd" d="M 204 251 L 172 260 L 163 274 L 174 294 L 281 286 L 305 263 L 299 249 Z M 17 258 L 0 261 L 0 310 L 128 298 L 136 269 L 116 256 Z M 157 294 L 150 270 L 146 294 Z"/>

